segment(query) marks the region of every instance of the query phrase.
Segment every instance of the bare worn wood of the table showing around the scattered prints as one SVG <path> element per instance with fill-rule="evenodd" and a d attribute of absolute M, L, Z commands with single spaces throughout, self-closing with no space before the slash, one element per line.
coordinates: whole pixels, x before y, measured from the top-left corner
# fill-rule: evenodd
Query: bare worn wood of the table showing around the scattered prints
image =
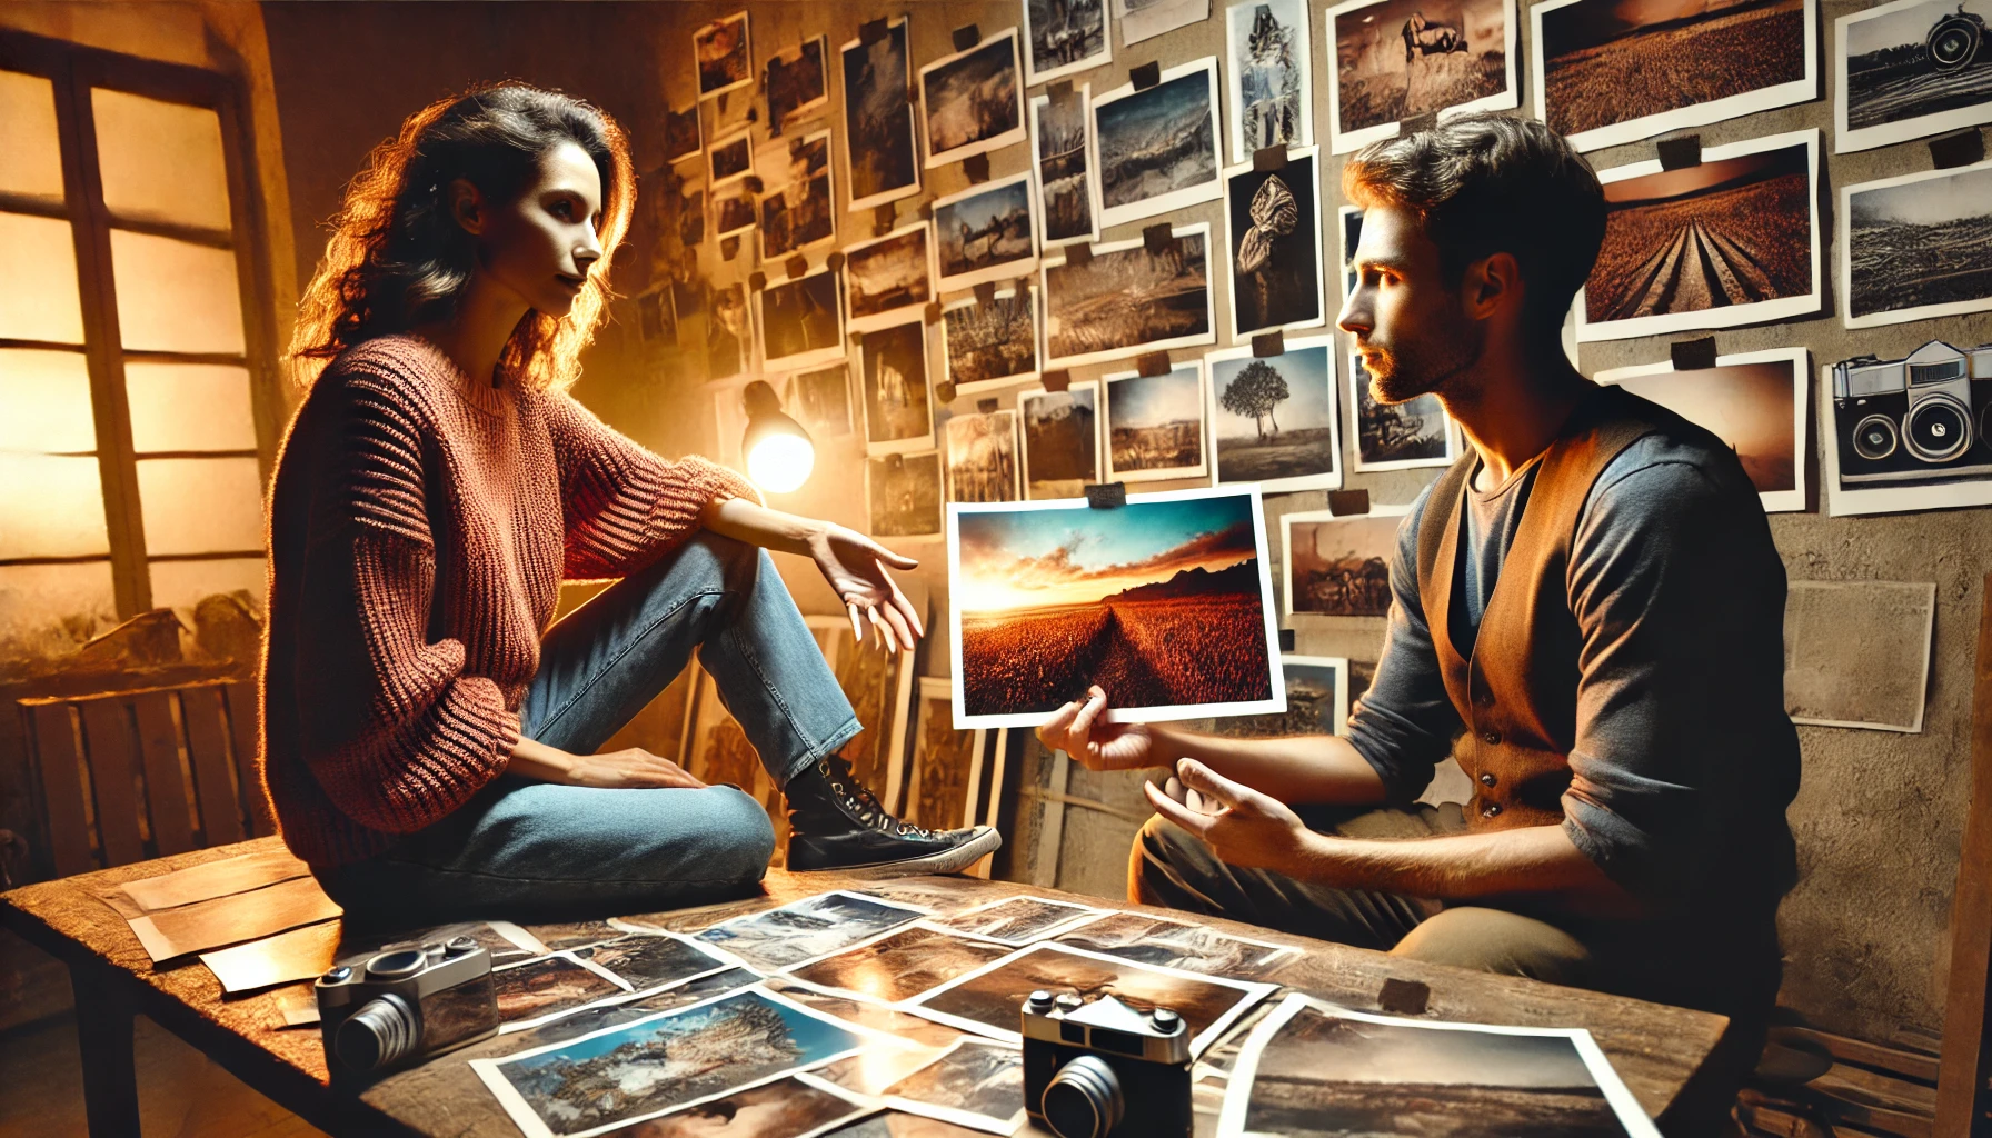
<path fill-rule="evenodd" d="M 508 1054 L 518 1036 L 482 1044 L 394 1074 L 357 1098 L 335 1094 L 327 1082 L 317 1028 L 283 1028 L 281 995 L 309 993 L 305 985 L 223 1000 L 221 987 L 197 961 L 153 971 L 137 937 L 96 895 L 112 885 L 157 877 L 223 857 L 271 849 L 267 837 L 163 857 L 98 873 L 26 885 L 0 895 L 0 921 L 70 965 L 76 987 L 76 1022 L 84 1062 L 84 1094 L 94 1138 L 137 1134 L 137 1084 L 131 1056 L 131 1016 L 143 1012 L 159 1026 L 197 1046 L 231 1074 L 277 1104 L 331 1134 L 498 1134 L 510 1136 L 504 1108 L 470 1072 L 466 1060 Z M 1070 899 L 1096 907 L 1141 911 L 1147 907 L 1100 897 L 1032 889 L 1010 881 L 972 877 L 922 879 L 960 895 L 962 907 L 1016 893 Z M 745 901 L 651 915 L 673 931 L 693 931 L 713 921 L 769 909 L 839 887 L 863 887 L 855 875 L 789 875 L 769 871 L 765 893 Z M 1147 909 L 1165 913 L 1161 909 Z M 1468 973 L 1442 965 L 1398 961 L 1382 953 L 1283 937 L 1235 921 L 1207 921 L 1221 933 L 1299 945 L 1305 951 L 1265 977 L 1297 991 L 1374 1010 L 1386 979 L 1430 987 L 1426 1016 L 1458 1022 L 1582 1026 L 1651 1116 L 1663 1126 L 1699 1098 L 1697 1072 L 1721 1040 L 1723 1016 L 1649 1004 L 1621 996 L 1564 989 L 1514 977 Z M 1685 1132 L 1685 1130 L 1683 1130 Z"/>

